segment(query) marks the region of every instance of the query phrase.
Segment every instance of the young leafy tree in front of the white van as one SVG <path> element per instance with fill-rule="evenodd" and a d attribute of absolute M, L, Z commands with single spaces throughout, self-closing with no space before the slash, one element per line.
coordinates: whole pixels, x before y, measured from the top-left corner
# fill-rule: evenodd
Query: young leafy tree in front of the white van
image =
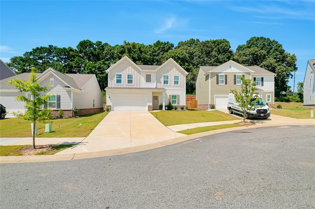
<path fill-rule="evenodd" d="M 231 89 L 235 97 L 235 102 L 241 108 L 241 113 L 243 113 L 243 122 L 246 122 L 247 111 L 252 111 L 256 109 L 256 103 L 259 101 L 260 97 L 255 95 L 257 88 L 255 87 L 255 81 L 250 79 L 241 78 L 242 85 L 241 91 L 238 92 L 236 89 Z M 253 99 L 254 98 L 254 99 Z"/>

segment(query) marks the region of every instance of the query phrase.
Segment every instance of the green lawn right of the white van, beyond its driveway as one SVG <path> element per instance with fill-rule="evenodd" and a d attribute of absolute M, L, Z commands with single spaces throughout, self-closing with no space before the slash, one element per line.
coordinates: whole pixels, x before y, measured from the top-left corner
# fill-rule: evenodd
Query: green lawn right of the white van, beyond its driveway
<path fill-rule="evenodd" d="M 290 118 L 310 118 L 311 110 L 303 108 L 301 102 L 275 102 L 282 105 L 282 110 L 270 110 L 271 114 L 281 115 Z"/>

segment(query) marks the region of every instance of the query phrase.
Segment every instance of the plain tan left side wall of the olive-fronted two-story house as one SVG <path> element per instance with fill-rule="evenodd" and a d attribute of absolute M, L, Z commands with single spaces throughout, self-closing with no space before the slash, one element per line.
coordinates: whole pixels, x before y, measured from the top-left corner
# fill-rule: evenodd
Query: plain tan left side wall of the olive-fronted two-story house
<path fill-rule="evenodd" d="M 202 69 L 199 69 L 196 80 L 196 100 L 199 105 L 209 104 L 209 74 L 204 76 Z M 200 85 L 199 85 L 200 83 Z"/>

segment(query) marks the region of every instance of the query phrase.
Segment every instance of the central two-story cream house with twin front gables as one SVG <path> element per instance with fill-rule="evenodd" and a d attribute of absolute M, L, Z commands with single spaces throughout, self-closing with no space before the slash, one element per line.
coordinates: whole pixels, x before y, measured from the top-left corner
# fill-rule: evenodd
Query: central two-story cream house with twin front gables
<path fill-rule="evenodd" d="M 127 56 L 106 70 L 106 107 L 112 111 L 165 109 L 169 102 L 186 106 L 186 75 L 172 58 L 162 65 L 137 65 Z"/>

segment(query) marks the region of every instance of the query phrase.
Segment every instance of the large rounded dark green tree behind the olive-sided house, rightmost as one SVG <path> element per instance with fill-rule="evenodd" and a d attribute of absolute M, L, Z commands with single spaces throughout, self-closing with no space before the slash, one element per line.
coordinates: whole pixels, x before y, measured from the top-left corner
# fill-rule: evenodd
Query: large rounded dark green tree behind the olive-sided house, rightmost
<path fill-rule="evenodd" d="M 285 94 L 289 78 L 295 72 L 296 56 L 285 52 L 282 45 L 265 37 L 251 37 L 246 44 L 239 45 L 234 53 L 236 62 L 243 65 L 257 65 L 273 73 L 275 77 L 275 96 Z"/>

